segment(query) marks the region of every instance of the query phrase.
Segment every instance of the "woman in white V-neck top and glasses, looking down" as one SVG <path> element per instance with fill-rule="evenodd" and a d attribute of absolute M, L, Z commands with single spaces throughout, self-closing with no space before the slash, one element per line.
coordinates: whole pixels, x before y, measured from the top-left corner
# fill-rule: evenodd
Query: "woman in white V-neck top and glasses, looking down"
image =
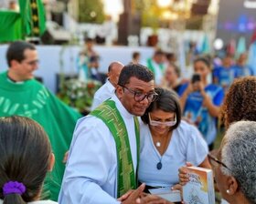
<path fill-rule="evenodd" d="M 178 97 L 173 91 L 155 88 L 157 100 L 141 123 L 139 181 L 146 189 L 171 188 L 178 183 L 178 168 L 190 161 L 209 168 L 208 145 L 196 127 L 181 120 Z"/>

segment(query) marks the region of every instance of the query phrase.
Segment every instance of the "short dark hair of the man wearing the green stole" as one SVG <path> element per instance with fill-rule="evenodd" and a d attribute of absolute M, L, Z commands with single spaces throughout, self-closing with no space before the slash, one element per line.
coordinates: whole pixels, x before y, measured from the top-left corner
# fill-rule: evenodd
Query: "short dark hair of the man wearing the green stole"
<path fill-rule="evenodd" d="M 125 86 L 129 84 L 130 78 L 133 76 L 144 82 L 150 82 L 154 80 L 153 73 L 146 66 L 139 64 L 129 64 L 127 66 L 123 66 L 119 76 L 118 85 Z"/>

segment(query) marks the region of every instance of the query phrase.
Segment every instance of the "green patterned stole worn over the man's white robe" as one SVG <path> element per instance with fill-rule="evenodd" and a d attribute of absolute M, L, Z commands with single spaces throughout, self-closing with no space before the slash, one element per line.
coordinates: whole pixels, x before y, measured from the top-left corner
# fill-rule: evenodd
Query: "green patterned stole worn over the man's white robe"
<path fill-rule="evenodd" d="M 117 198 L 121 197 L 129 189 L 137 188 L 136 173 L 133 168 L 133 158 L 131 154 L 130 142 L 123 117 L 115 106 L 115 102 L 107 100 L 100 107 L 94 109 L 91 116 L 100 118 L 110 129 L 112 137 L 115 140 L 117 155 Z M 136 143 L 137 143 L 137 164 L 139 164 L 139 122 L 134 117 Z M 137 165 L 138 167 L 139 165 Z"/>

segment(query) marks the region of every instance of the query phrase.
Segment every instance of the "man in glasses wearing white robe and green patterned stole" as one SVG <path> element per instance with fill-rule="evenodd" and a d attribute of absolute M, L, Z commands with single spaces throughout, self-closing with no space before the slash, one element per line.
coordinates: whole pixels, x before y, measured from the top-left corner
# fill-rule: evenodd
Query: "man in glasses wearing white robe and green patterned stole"
<path fill-rule="evenodd" d="M 81 118 L 74 131 L 59 203 L 136 203 L 139 125 L 137 117 L 157 98 L 153 73 L 123 67 L 115 95 Z M 126 194 L 129 189 L 135 189 Z"/>

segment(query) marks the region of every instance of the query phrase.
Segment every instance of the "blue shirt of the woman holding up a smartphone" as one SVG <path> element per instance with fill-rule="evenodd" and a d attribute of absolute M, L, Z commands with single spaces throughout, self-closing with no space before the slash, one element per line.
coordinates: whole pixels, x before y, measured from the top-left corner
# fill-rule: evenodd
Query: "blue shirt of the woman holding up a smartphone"
<path fill-rule="evenodd" d="M 182 96 L 187 89 L 188 84 L 180 87 L 178 95 Z M 223 88 L 210 84 L 205 87 L 205 92 L 211 98 L 215 106 L 220 106 L 223 98 Z M 207 107 L 203 107 L 203 97 L 200 92 L 192 92 L 187 96 L 186 105 L 184 108 L 184 117 L 194 123 L 206 139 L 208 145 L 212 144 L 217 135 L 216 117 L 210 116 Z"/>

